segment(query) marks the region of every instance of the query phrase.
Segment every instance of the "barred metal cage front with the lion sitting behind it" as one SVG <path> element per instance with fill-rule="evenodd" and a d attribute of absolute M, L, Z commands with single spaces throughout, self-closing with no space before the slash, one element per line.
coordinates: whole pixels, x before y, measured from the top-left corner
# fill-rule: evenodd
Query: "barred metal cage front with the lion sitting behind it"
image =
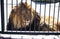
<path fill-rule="evenodd" d="M 60 1 L 1 0 L 1 32 L 60 33 Z"/>

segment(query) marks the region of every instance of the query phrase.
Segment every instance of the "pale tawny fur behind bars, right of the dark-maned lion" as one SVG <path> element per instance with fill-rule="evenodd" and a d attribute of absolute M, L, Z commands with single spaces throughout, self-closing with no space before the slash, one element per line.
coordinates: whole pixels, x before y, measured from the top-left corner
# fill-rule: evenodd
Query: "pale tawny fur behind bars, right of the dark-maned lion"
<path fill-rule="evenodd" d="M 44 17 L 43 16 L 40 16 L 40 17 L 41 17 L 40 24 L 43 24 L 44 23 Z M 53 24 L 53 22 L 54 22 L 54 24 Z M 53 21 L 52 16 L 50 16 L 50 18 L 49 18 L 49 16 L 45 17 L 45 23 L 50 29 L 52 29 L 54 31 L 57 31 L 57 30 L 59 31 L 60 30 L 59 29 L 60 28 L 60 23 L 58 22 L 58 25 L 57 25 L 56 19 L 54 18 L 54 21 Z"/>

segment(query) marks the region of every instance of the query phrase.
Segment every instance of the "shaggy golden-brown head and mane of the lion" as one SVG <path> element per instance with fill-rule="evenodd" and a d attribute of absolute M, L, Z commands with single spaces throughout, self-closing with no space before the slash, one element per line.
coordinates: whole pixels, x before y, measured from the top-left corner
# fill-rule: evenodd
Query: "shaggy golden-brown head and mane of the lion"
<path fill-rule="evenodd" d="M 15 29 L 23 28 L 29 26 L 37 15 L 38 13 L 34 11 L 30 5 L 21 3 L 12 9 L 8 23 L 13 24 Z"/>

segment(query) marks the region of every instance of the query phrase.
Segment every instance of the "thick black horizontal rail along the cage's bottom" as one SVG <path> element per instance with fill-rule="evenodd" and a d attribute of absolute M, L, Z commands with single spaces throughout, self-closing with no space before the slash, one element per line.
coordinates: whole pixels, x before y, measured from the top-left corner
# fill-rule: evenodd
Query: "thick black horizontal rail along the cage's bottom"
<path fill-rule="evenodd" d="M 2 34 L 24 34 L 24 35 L 59 35 L 60 33 L 34 33 L 34 32 L 1 32 Z"/>

